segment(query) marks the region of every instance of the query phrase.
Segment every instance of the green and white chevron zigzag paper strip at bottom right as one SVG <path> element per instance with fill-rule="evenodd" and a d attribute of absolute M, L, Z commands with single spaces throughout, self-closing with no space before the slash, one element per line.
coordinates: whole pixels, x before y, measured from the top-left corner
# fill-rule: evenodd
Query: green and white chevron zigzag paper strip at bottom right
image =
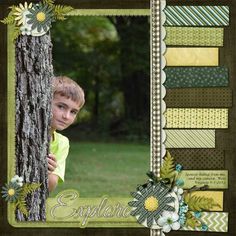
<path fill-rule="evenodd" d="M 193 213 L 193 212 L 192 212 Z M 210 232 L 228 232 L 228 213 L 227 212 L 201 212 L 201 221 L 208 227 Z M 180 230 L 202 231 L 200 227 L 191 228 L 185 226 Z"/>

